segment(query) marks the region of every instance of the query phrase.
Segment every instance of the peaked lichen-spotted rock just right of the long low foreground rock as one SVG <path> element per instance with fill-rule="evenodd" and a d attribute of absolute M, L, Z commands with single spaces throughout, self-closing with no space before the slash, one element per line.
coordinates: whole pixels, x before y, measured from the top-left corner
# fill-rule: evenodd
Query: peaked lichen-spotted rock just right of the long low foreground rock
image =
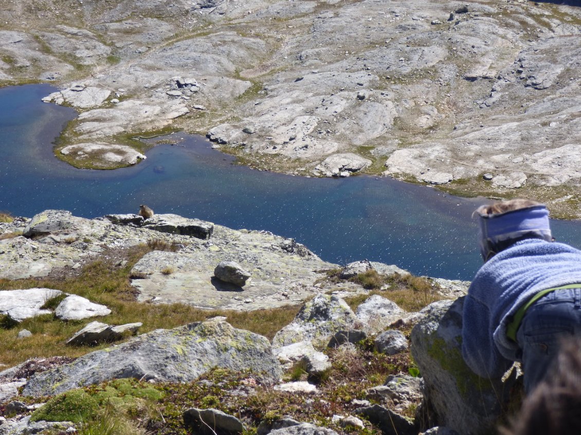
<path fill-rule="evenodd" d="M 317 296 L 300 309 L 295 319 L 276 333 L 272 347 L 282 347 L 304 340 L 325 346 L 335 332 L 350 329 L 357 320 L 345 300 L 335 295 Z"/>

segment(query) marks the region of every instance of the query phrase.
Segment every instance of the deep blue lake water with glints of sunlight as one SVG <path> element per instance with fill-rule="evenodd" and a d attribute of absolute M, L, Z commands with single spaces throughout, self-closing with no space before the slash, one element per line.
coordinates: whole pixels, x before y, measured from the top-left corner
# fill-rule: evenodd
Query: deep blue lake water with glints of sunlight
<path fill-rule="evenodd" d="M 471 213 L 457 198 L 385 177 L 293 177 L 234 165 L 203 137 L 175 133 L 147 159 L 114 171 L 76 169 L 52 148 L 74 110 L 41 102 L 48 85 L 0 88 L 0 211 L 32 217 L 66 209 L 95 218 L 177 213 L 234 229 L 293 237 L 338 264 L 369 259 L 418 275 L 469 280 L 481 264 Z M 553 221 L 559 241 L 581 247 L 581 223 Z"/>

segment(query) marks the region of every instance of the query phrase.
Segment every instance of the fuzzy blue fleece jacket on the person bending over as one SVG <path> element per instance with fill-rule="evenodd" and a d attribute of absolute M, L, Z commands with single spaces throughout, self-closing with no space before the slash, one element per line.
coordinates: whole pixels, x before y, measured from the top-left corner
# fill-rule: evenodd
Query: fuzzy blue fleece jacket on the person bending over
<path fill-rule="evenodd" d="M 581 251 L 539 239 L 519 241 L 482 267 L 468 289 L 462 318 L 462 356 L 476 374 L 498 378 L 519 361 L 507 324 L 535 293 L 581 284 Z"/>

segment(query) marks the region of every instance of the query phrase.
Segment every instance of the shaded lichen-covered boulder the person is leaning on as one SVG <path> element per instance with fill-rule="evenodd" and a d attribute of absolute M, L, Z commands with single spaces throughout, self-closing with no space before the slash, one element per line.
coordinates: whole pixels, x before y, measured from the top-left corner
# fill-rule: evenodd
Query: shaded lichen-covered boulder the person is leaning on
<path fill-rule="evenodd" d="M 424 401 L 435 412 L 428 427 L 442 425 L 465 434 L 494 432 L 513 376 L 484 379 L 461 353 L 464 298 L 434 303 L 411 332 L 411 353 L 424 378 Z"/>

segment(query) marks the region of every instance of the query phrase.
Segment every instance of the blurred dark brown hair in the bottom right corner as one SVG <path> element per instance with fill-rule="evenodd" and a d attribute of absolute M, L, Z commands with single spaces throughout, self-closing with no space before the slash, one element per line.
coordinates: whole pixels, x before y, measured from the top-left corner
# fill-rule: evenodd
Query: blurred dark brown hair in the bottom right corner
<path fill-rule="evenodd" d="M 562 343 L 552 371 L 527 397 L 503 435 L 561 435 L 581 431 L 581 340 Z"/>

